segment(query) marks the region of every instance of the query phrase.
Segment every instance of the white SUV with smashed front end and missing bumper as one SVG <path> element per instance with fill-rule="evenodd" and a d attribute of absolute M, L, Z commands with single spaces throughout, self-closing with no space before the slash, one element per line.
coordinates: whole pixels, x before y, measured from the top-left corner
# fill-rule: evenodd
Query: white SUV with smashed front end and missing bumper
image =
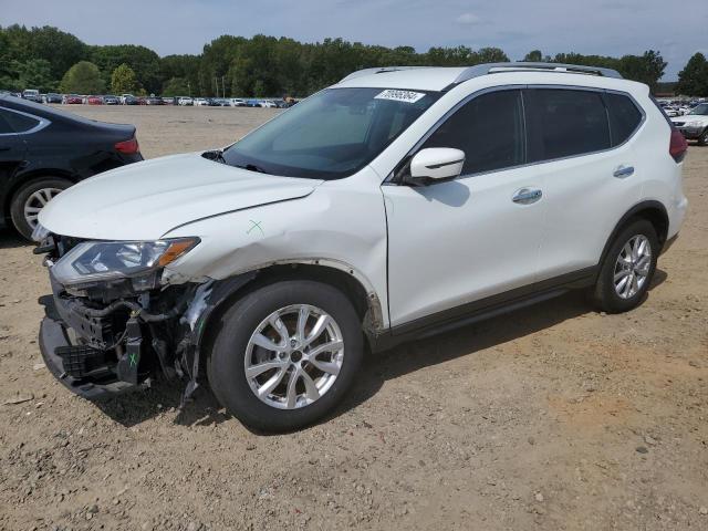
<path fill-rule="evenodd" d="M 543 63 L 373 69 L 236 144 L 87 179 L 40 214 L 40 343 L 97 397 L 206 372 L 243 423 L 315 421 L 379 351 L 591 291 L 645 298 L 686 142 L 646 85 Z M 500 323 L 501 325 L 501 323 Z"/>

